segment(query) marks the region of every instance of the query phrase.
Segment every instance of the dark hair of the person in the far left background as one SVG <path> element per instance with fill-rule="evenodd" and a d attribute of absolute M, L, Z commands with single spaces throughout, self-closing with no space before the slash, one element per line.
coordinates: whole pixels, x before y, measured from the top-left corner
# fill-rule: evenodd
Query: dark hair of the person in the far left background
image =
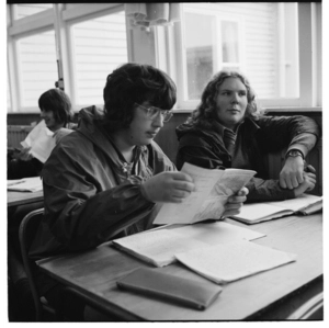
<path fill-rule="evenodd" d="M 65 125 L 73 120 L 73 111 L 69 97 L 60 89 L 49 89 L 38 99 L 41 111 L 52 111 L 54 118 Z"/>

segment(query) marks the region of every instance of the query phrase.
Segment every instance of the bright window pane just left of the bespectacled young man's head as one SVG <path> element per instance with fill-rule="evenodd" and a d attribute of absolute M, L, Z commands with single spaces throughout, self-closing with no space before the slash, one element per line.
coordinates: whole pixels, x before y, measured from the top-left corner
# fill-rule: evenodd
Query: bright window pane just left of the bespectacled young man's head
<path fill-rule="evenodd" d="M 71 41 L 76 103 L 101 104 L 109 72 L 127 61 L 124 12 L 73 24 Z"/>

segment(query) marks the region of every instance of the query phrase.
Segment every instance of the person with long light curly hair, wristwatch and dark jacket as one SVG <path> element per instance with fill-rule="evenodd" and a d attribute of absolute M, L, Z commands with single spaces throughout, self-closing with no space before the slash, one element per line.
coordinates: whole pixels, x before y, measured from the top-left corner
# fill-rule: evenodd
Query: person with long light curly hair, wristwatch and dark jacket
<path fill-rule="evenodd" d="M 177 167 L 190 162 L 208 169 L 256 170 L 247 185 L 248 201 L 293 199 L 314 189 L 315 170 L 305 172 L 304 158 L 319 137 L 317 124 L 305 116 L 265 116 L 248 79 L 219 71 L 203 91 L 200 105 L 177 127 Z M 277 180 L 269 179 L 266 156 L 287 147 Z"/>

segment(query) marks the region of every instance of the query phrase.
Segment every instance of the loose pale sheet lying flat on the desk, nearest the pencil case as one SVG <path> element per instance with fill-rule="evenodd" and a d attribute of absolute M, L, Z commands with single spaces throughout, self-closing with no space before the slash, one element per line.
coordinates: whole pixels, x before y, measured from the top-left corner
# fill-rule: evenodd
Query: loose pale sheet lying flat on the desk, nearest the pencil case
<path fill-rule="evenodd" d="M 296 255 L 240 240 L 177 253 L 175 258 L 216 283 L 227 283 L 295 261 Z"/>

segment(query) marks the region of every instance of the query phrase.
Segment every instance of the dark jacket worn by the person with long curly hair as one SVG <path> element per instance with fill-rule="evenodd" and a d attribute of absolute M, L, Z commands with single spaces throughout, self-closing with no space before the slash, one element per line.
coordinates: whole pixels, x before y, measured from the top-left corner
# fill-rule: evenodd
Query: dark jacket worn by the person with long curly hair
<path fill-rule="evenodd" d="M 185 161 L 208 169 L 232 167 L 232 158 L 225 147 L 223 126 L 219 123 L 214 121 L 211 129 L 184 123 L 175 132 L 179 139 L 178 169 Z M 305 157 L 315 146 L 318 136 L 317 124 L 306 116 L 260 116 L 257 121 L 246 118 L 238 129 L 237 138 L 250 162 L 243 169 L 257 171 L 256 178 L 247 185 L 247 201 L 293 199 L 293 191 L 282 189 L 279 180 L 269 179 L 268 155 L 287 148 L 298 149 Z"/>

